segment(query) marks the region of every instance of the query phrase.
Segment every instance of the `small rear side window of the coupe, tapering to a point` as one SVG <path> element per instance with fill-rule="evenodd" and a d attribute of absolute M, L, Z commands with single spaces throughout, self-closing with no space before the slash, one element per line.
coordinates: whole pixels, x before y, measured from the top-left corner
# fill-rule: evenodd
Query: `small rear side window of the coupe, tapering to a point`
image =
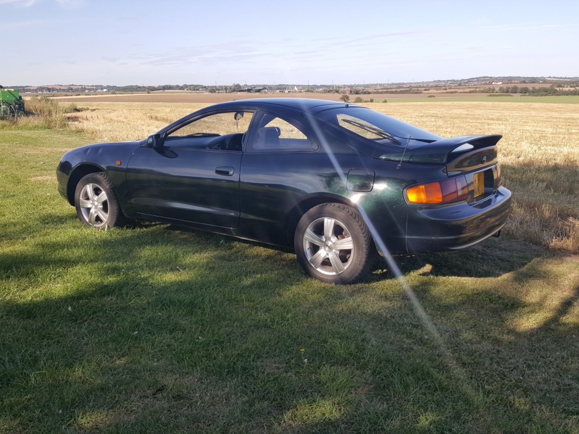
<path fill-rule="evenodd" d="M 295 152 L 313 150 L 316 144 L 296 126 L 280 117 L 262 112 L 256 119 L 248 152 Z"/>

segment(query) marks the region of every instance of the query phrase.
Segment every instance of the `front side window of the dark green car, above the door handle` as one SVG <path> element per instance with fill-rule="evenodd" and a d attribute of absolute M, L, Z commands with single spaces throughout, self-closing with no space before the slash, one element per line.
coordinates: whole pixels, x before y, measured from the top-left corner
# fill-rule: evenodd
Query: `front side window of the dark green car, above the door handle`
<path fill-rule="evenodd" d="M 214 113 L 171 131 L 165 142 L 173 148 L 241 151 L 252 117 L 252 112 Z"/>

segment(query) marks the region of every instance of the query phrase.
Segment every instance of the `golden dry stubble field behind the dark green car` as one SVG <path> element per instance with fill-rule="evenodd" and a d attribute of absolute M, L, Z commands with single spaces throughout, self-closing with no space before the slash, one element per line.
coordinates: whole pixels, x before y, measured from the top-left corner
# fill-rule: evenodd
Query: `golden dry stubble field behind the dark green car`
<path fill-rule="evenodd" d="M 139 139 L 206 104 L 94 102 L 72 128 L 97 141 Z M 579 104 L 413 102 L 367 104 L 444 137 L 502 134 L 504 185 L 514 192 L 505 234 L 579 252 Z"/>

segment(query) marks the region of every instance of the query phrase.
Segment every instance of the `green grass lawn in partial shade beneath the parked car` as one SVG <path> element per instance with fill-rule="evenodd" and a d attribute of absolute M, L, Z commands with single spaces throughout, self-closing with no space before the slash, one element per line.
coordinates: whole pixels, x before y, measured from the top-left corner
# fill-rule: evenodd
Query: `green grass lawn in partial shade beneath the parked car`
<path fill-rule="evenodd" d="M 398 259 L 432 334 L 385 263 L 334 286 L 251 242 L 87 229 L 54 170 L 90 141 L 0 131 L 0 432 L 579 432 L 578 256 Z"/>

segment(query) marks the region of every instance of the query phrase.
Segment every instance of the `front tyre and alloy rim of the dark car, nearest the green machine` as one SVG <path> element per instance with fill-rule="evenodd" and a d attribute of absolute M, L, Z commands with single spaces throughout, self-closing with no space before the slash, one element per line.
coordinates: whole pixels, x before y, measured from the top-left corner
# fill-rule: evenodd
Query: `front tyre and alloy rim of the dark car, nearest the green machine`
<path fill-rule="evenodd" d="M 104 219 L 104 221 L 97 214 L 94 218 L 95 222 L 91 223 L 89 221 L 91 208 L 81 206 L 81 204 L 86 205 L 87 202 L 87 198 L 81 198 L 81 193 L 83 193 L 83 189 L 87 185 L 96 186 L 93 189 L 93 194 L 104 192 L 106 195 L 106 203 L 101 204 L 101 211 L 107 215 L 107 218 Z M 87 192 L 88 189 L 85 190 L 85 193 Z M 74 204 L 76 208 L 76 216 L 78 216 L 79 220 L 86 226 L 93 227 L 95 229 L 108 229 L 110 227 L 127 225 L 127 219 L 120 209 L 119 199 L 116 196 L 115 187 L 104 172 L 91 173 L 83 176 L 83 178 L 80 179 L 79 183 L 76 185 L 76 190 L 74 193 Z M 84 212 L 83 209 L 85 210 Z M 89 214 L 89 216 L 87 216 L 87 214 Z M 104 214 L 101 213 L 101 215 Z"/>

